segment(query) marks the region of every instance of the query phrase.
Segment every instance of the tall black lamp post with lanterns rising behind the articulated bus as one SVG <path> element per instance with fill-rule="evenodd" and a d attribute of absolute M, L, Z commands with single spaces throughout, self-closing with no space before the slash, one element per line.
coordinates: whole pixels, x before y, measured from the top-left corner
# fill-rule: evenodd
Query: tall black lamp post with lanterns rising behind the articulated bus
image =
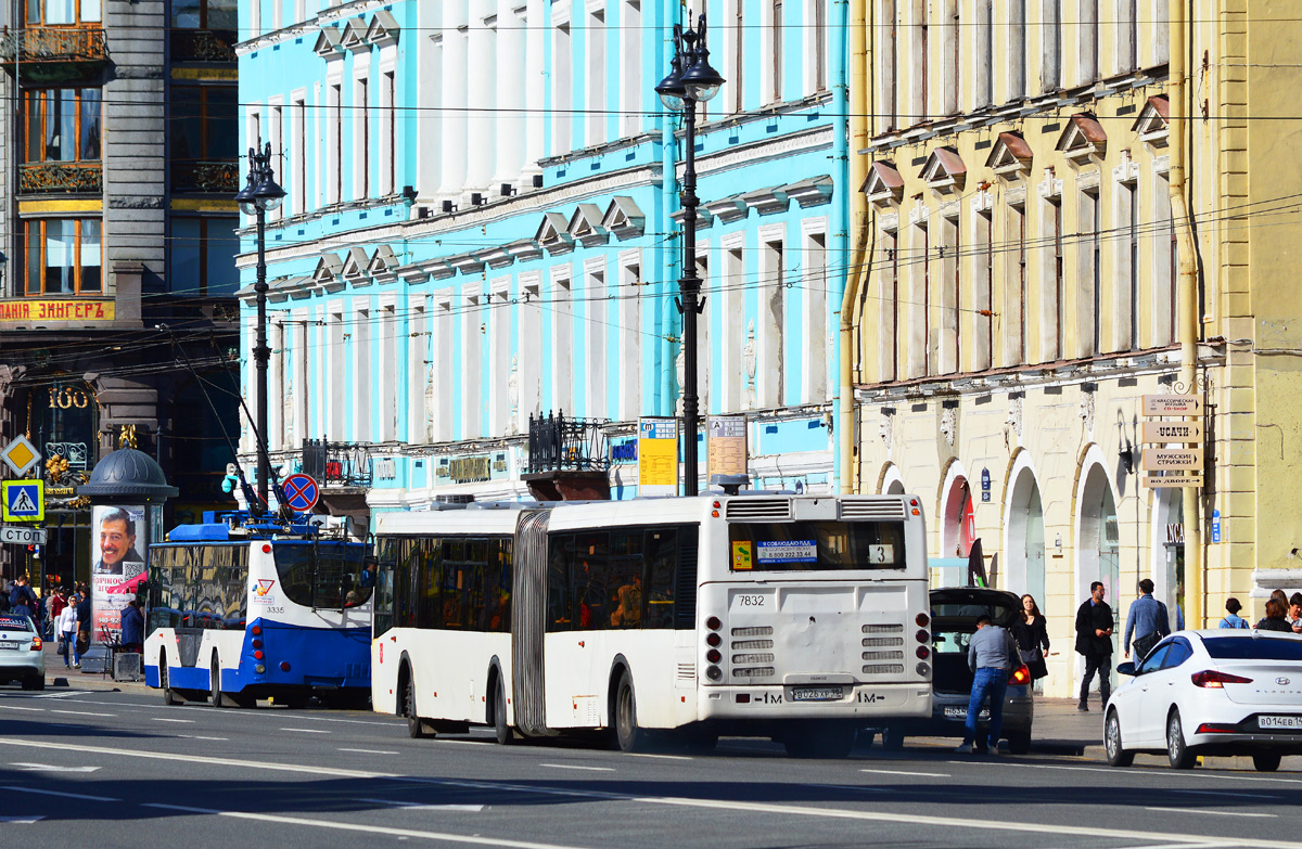
<path fill-rule="evenodd" d="M 697 276 L 697 104 L 719 94 L 724 78 L 710 66 L 710 51 L 706 49 L 706 16 L 697 18 L 691 26 L 691 13 L 687 13 L 687 27 L 673 27 L 674 53 L 669 64 L 669 76 L 655 87 L 665 108 L 682 112 L 684 122 L 684 168 L 682 190 L 682 276 L 678 279 L 678 292 L 682 296 L 682 430 L 684 430 L 684 495 L 697 495 L 697 427 L 700 419 L 699 398 L 697 397 L 697 315 L 699 311 L 700 277 Z"/>

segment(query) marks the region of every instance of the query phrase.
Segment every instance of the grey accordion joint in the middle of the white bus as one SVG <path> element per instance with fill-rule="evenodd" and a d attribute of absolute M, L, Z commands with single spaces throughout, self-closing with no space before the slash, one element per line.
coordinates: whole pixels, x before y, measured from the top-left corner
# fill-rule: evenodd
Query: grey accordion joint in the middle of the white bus
<path fill-rule="evenodd" d="M 547 525 L 551 510 L 521 510 L 510 611 L 512 703 L 516 727 L 548 734 L 543 708 L 543 634 L 547 630 Z"/>

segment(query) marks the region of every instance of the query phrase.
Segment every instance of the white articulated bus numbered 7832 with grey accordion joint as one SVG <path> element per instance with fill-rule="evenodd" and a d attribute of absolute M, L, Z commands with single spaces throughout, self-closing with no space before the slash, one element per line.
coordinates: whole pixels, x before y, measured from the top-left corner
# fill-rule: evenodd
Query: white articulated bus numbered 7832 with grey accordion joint
<path fill-rule="evenodd" d="M 379 518 L 372 704 L 413 736 L 768 736 L 931 715 L 910 496 L 704 495 Z"/>

